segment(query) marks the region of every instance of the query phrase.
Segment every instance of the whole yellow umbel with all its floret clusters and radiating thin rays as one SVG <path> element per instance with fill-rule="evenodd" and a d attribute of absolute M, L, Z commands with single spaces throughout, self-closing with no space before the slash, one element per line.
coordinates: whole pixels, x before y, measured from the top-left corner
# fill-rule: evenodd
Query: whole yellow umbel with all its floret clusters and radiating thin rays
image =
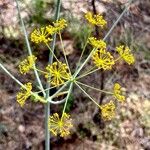
<path fill-rule="evenodd" d="M 103 18 L 102 15 L 93 15 L 92 13 L 88 12 L 85 15 L 85 18 L 89 21 L 89 23 L 99 26 L 100 28 L 104 28 L 107 25 L 107 21 Z M 26 74 L 34 66 L 34 69 L 36 71 L 39 71 L 40 73 L 45 75 L 45 78 L 47 79 L 48 82 L 50 82 L 50 84 L 52 86 L 59 88 L 60 85 L 65 84 L 65 82 L 66 82 L 66 84 L 63 85 L 59 89 L 60 93 L 58 93 L 58 94 L 55 93 L 54 95 L 50 96 L 47 100 L 45 100 L 45 97 L 39 96 L 38 95 L 39 92 L 33 93 L 31 91 L 32 84 L 30 82 L 25 84 L 23 87 L 21 87 L 20 92 L 17 94 L 17 102 L 20 104 L 21 107 L 24 106 L 25 101 L 31 95 L 36 99 L 35 100 L 36 102 L 40 101 L 42 103 L 47 103 L 49 101 L 49 99 L 51 100 L 49 102 L 52 102 L 53 101 L 52 98 L 57 97 L 59 94 L 62 94 L 62 93 L 64 94 L 63 88 L 67 84 L 69 85 L 71 83 L 69 90 L 65 91 L 66 93 L 70 94 L 71 90 L 72 90 L 71 86 L 74 83 L 76 85 L 78 85 L 78 83 L 81 83 L 81 82 L 78 82 L 77 80 L 79 80 L 81 77 L 86 76 L 87 74 L 90 74 L 91 72 L 95 71 L 95 70 L 92 70 L 91 72 L 89 71 L 87 74 L 85 73 L 85 75 L 83 74 L 81 76 L 78 76 L 78 73 L 81 71 L 81 69 L 84 67 L 84 65 L 87 63 L 87 61 L 90 58 L 93 60 L 94 65 L 98 69 L 103 69 L 103 70 L 112 69 L 113 65 L 118 60 L 118 59 L 114 59 L 114 57 L 111 55 L 111 53 L 109 51 L 107 51 L 107 45 L 104 40 L 97 39 L 95 37 L 90 37 L 88 39 L 88 43 L 93 47 L 93 50 L 92 50 L 90 56 L 88 57 L 88 59 L 85 60 L 85 63 L 83 63 L 83 66 L 81 65 L 81 68 L 79 68 L 79 70 L 76 70 L 73 77 L 71 77 L 71 71 L 70 71 L 70 68 L 68 65 L 67 58 L 65 57 L 66 64 L 60 62 L 57 59 L 55 52 L 53 50 L 51 50 L 51 48 L 48 44 L 50 41 L 52 41 L 53 34 L 59 34 L 59 37 L 60 37 L 60 40 L 62 43 L 60 31 L 62 31 L 65 27 L 67 27 L 66 20 L 60 19 L 60 20 L 57 20 L 56 22 L 53 22 L 52 25 L 48 25 L 48 26 L 45 26 L 45 27 L 42 27 L 39 29 L 35 29 L 31 33 L 31 41 L 36 44 L 39 44 L 39 43 L 46 44 L 47 47 L 49 48 L 49 50 L 51 51 L 51 54 L 55 57 L 56 62 L 52 62 L 45 68 L 46 71 L 42 71 L 40 69 L 37 69 L 34 66 L 37 58 L 34 55 L 31 55 L 31 56 L 28 56 L 24 61 L 22 61 L 20 63 L 19 70 L 20 70 L 20 73 Z M 63 44 L 62 44 L 62 47 L 63 47 Z M 118 46 L 118 47 L 116 47 L 116 51 L 120 55 L 119 58 L 124 59 L 129 65 L 134 63 L 135 59 L 134 59 L 130 49 L 127 46 L 123 46 L 123 45 Z M 81 56 L 82 56 L 82 54 L 81 54 Z M 82 58 L 81 58 L 81 60 L 82 60 Z M 79 63 L 80 63 L 80 60 L 79 60 Z M 83 85 L 83 86 L 85 85 L 88 88 L 110 94 L 113 96 L 113 99 L 115 98 L 119 102 L 125 101 L 125 96 L 123 95 L 122 87 L 118 83 L 114 84 L 113 92 L 100 90 L 95 87 L 88 86 L 84 83 L 83 84 L 81 83 L 81 85 Z M 78 85 L 78 87 L 80 88 L 80 85 Z M 54 87 L 52 87 L 52 88 L 54 88 Z M 44 93 L 47 89 L 41 88 L 41 90 Z M 86 96 L 88 96 L 100 108 L 101 115 L 104 120 L 111 120 L 112 118 L 114 118 L 116 106 L 115 106 L 115 103 L 113 102 L 113 100 L 109 101 L 106 104 L 99 105 L 92 97 L 90 97 L 86 93 L 86 91 L 84 91 L 84 89 L 81 88 L 81 90 L 86 94 Z M 45 93 L 43 95 L 45 95 Z M 69 95 L 67 95 L 67 97 L 68 96 Z M 68 99 L 66 98 L 65 100 L 66 101 L 65 101 L 62 116 L 60 117 L 58 115 L 58 113 L 54 113 L 53 115 L 51 115 L 49 117 L 49 120 L 48 120 L 49 130 L 55 136 L 60 135 L 61 137 L 65 137 L 65 136 L 69 135 L 70 129 L 73 126 L 72 120 L 70 119 L 70 115 L 65 113 Z M 61 102 L 61 101 L 58 101 L 58 103 L 59 102 Z"/>

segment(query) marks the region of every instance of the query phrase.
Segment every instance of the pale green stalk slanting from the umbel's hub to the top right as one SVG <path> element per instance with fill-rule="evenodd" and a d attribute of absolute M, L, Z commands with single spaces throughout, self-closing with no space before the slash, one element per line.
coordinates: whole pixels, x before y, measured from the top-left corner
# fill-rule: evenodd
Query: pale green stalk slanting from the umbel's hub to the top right
<path fill-rule="evenodd" d="M 130 6 L 132 0 L 129 1 L 128 6 L 126 6 L 126 8 L 124 9 L 124 11 L 121 13 L 121 15 L 118 17 L 118 19 L 115 21 L 115 23 L 113 24 L 113 26 L 110 28 L 110 30 L 107 32 L 107 34 L 105 35 L 105 37 L 103 38 L 103 40 L 105 41 L 108 36 L 110 35 L 110 33 L 113 31 L 113 29 L 116 27 L 116 25 L 118 24 L 118 22 L 121 20 L 121 18 L 123 17 L 123 15 L 126 13 L 126 11 L 128 10 L 128 7 Z M 96 50 L 96 48 L 94 48 L 91 53 L 89 54 L 89 56 L 86 58 L 86 60 L 82 63 L 82 65 L 79 67 L 79 69 L 75 72 L 74 77 L 76 77 L 79 72 L 81 71 L 81 69 L 85 66 L 85 64 L 90 60 L 93 52 Z"/>

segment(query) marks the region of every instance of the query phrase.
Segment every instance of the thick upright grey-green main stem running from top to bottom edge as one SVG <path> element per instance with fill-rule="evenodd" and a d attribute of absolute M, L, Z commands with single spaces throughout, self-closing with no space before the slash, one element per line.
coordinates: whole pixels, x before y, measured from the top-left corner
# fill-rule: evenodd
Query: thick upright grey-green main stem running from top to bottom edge
<path fill-rule="evenodd" d="M 59 14 L 60 14 L 60 6 L 61 6 L 61 0 L 57 0 L 56 4 L 56 12 L 55 12 L 55 20 L 58 20 Z M 55 43 L 56 43 L 56 34 L 53 36 L 53 41 L 52 41 L 52 52 L 54 52 L 55 49 Z M 49 64 L 53 63 L 53 55 L 49 53 Z M 46 85 L 46 88 L 50 88 L 50 83 L 48 82 Z M 50 90 L 46 91 L 46 99 L 49 98 L 50 95 Z M 50 99 L 52 100 L 52 99 Z M 50 132 L 48 129 L 48 119 L 50 116 L 50 102 L 48 101 L 47 104 L 45 105 L 45 150 L 50 150 Z"/>

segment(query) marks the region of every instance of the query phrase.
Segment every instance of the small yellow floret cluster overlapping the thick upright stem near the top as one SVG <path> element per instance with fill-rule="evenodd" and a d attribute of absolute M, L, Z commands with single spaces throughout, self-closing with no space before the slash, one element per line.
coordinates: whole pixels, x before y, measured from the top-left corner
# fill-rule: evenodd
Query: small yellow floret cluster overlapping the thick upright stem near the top
<path fill-rule="evenodd" d="M 57 31 L 63 30 L 67 26 L 67 21 L 65 19 L 57 20 L 53 22 L 53 25 Z"/>

